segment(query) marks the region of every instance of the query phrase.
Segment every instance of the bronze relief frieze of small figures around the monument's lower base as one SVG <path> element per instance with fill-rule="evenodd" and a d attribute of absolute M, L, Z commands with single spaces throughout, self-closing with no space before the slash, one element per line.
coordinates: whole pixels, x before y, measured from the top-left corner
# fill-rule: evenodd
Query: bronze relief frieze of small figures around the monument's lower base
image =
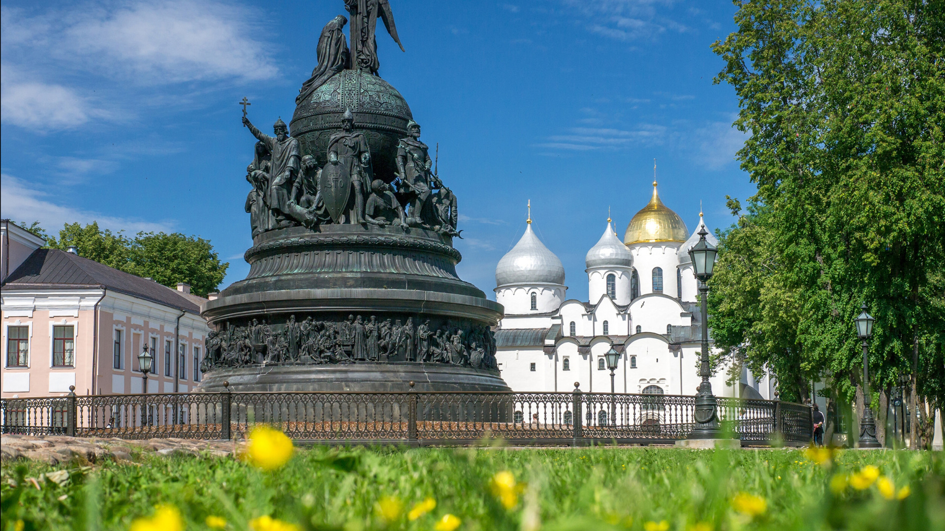
<path fill-rule="evenodd" d="M 343 364 L 354 362 L 444 363 L 497 368 L 495 339 L 489 327 L 414 322 L 376 316 L 348 316 L 338 321 L 291 316 L 284 324 L 252 319 L 244 326 L 211 332 L 200 369 L 236 368 L 275 363 Z"/>

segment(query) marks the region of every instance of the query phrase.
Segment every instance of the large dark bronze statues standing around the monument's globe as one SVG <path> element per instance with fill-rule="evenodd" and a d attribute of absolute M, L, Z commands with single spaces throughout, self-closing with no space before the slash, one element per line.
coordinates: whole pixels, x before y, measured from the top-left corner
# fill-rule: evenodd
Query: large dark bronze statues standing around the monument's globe
<path fill-rule="evenodd" d="M 429 148 L 420 141 L 416 122 L 407 124 L 410 134 L 397 146 L 398 173 L 390 184 L 373 178 L 368 138 L 355 130 L 350 110 L 328 143 L 323 167 L 315 157 L 301 155 L 298 139 L 289 136 L 282 119 L 273 126 L 275 136 L 260 131 L 246 116 L 243 124 L 259 141 L 246 177 L 252 185 L 246 212 L 253 236 L 331 223 L 459 235 L 456 197 L 431 170 Z"/>

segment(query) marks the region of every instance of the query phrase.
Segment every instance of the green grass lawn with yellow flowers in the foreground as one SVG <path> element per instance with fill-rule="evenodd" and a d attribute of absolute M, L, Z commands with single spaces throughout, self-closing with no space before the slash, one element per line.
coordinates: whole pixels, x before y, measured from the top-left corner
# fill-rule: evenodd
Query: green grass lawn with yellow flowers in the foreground
<path fill-rule="evenodd" d="M 911 493 L 887 500 L 873 484 L 833 494 L 833 475 L 869 464 Z M 272 472 L 229 458 L 142 455 L 137 463 L 66 467 L 62 485 L 41 476 L 59 469 L 3 463 L 5 531 L 18 521 L 24 531 L 126 530 L 159 504 L 179 507 L 191 530 L 204 529 L 208 515 L 232 530 L 261 515 L 305 530 L 425 530 L 446 513 L 462 521 L 459 530 L 645 530 L 662 521 L 671 531 L 699 522 L 715 530 L 945 529 L 945 462 L 904 451 L 844 451 L 825 467 L 796 450 L 315 448 Z M 510 510 L 491 492 L 497 471 L 527 484 Z M 739 492 L 764 498 L 765 512 L 737 512 Z M 437 507 L 416 521 L 402 514 L 387 522 L 378 505 L 384 497 L 400 500 L 404 513 L 426 497 Z"/>

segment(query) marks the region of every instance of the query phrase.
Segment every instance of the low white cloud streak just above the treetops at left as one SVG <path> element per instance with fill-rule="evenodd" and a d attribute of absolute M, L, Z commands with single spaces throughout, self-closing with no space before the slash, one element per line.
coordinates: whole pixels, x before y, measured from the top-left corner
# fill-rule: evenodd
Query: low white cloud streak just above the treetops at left
<path fill-rule="evenodd" d="M 9 174 L 0 176 L 0 215 L 16 221 L 32 223 L 39 221 L 43 229 L 56 233 L 66 223 L 88 224 L 98 222 L 102 229 L 126 231 L 135 234 L 139 231 L 173 231 L 174 224 L 169 221 L 150 222 L 141 219 L 115 217 L 72 206 L 55 203 L 38 190 L 33 190 L 26 182 Z"/>

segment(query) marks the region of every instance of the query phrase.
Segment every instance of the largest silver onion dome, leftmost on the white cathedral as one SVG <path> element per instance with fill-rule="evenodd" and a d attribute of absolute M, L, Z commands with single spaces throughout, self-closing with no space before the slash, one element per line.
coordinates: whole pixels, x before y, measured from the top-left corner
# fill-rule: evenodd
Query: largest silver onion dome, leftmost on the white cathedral
<path fill-rule="evenodd" d="M 495 284 L 553 283 L 564 284 L 564 266 L 554 252 L 548 250 L 531 229 L 509 250 L 495 267 Z"/>

